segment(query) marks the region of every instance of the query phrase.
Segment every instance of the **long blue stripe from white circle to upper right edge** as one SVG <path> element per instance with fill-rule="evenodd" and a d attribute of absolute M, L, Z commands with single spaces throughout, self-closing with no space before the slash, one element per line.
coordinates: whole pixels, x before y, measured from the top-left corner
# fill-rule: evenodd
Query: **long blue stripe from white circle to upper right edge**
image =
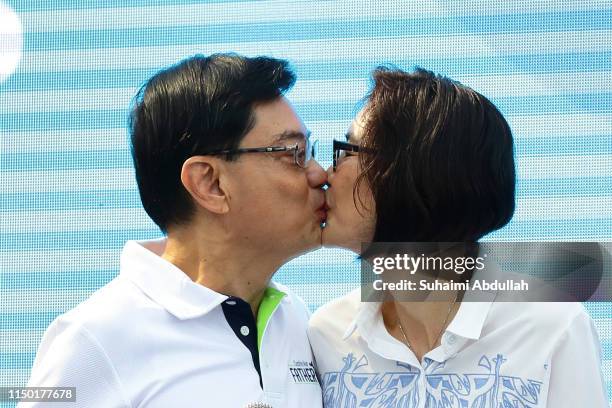
<path fill-rule="evenodd" d="M 244 11 L 248 13 L 247 10 Z M 204 16 L 203 16 L 204 17 Z M 511 15 L 451 16 L 365 21 L 237 23 L 80 30 L 25 34 L 25 50 L 136 48 L 191 44 L 303 41 L 340 38 L 425 37 L 589 31 L 612 28 L 612 9 Z"/>

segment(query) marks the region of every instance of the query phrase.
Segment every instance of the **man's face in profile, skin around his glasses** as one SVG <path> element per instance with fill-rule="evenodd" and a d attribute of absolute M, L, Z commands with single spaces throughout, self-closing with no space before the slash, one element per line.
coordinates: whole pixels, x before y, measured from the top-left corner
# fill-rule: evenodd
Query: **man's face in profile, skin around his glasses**
<path fill-rule="evenodd" d="M 304 145 L 308 131 L 286 98 L 253 112 L 255 125 L 240 148 Z M 314 160 L 301 168 L 293 151 L 248 153 L 228 162 L 227 170 L 228 223 L 239 242 L 283 259 L 321 245 L 327 175 Z"/>

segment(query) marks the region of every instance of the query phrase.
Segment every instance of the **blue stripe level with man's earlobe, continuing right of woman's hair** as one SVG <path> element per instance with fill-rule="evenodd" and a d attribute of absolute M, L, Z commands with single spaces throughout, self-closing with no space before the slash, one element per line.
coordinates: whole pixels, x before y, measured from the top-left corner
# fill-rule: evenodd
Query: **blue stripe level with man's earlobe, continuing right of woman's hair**
<path fill-rule="evenodd" d="M 607 197 L 612 177 L 518 180 L 517 196 L 522 197 Z M 141 208 L 136 189 L 0 193 L 2 211 L 92 210 Z"/>

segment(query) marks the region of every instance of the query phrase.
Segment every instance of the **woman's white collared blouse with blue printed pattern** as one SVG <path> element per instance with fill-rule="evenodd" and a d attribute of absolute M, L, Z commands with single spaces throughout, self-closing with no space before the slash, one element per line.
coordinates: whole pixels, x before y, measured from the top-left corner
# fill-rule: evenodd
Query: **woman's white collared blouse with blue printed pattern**
<path fill-rule="evenodd" d="M 578 303 L 462 302 L 419 362 L 357 290 L 315 312 L 309 337 L 326 408 L 608 407 Z"/>

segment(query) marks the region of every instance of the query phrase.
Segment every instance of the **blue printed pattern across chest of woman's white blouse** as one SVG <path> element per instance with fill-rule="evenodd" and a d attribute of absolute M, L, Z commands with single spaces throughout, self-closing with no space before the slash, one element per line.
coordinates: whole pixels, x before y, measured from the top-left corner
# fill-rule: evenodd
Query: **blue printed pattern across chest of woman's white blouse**
<path fill-rule="evenodd" d="M 343 359 L 340 371 L 323 376 L 323 399 L 326 408 L 414 408 L 422 396 L 417 386 L 420 371 L 397 362 L 397 370 L 385 373 L 362 373 L 368 366 L 365 355 L 357 359 L 352 353 Z M 500 375 L 506 359 L 498 354 L 483 355 L 477 374 L 435 373 L 444 367 L 425 359 L 427 408 L 535 408 L 541 381 Z M 482 371 L 482 370 L 481 370 Z"/>

